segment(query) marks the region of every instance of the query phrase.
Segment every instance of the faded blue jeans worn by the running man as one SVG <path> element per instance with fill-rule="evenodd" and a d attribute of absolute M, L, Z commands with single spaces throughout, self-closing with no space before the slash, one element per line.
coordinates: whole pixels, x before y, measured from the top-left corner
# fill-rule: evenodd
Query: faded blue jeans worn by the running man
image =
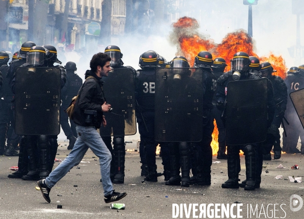
<path fill-rule="evenodd" d="M 103 143 L 94 126 L 77 125 L 76 130 L 78 137 L 72 151 L 60 165 L 50 173 L 50 176 L 46 178 L 47 186 L 49 188 L 55 186 L 73 166 L 80 163 L 90 148 L 93 153 L 99 157 L 103 193 L 105 196 L 111 194 L 113 191 L 113 185 L 110 180 L 111 153 Z"/>

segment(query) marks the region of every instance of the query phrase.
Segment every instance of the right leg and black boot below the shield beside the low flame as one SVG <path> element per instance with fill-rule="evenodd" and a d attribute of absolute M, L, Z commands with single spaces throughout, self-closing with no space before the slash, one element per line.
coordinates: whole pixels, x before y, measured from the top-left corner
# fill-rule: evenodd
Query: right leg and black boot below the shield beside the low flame
<path fill-rule="evenodd" d="M 256 177 L 256 152 L 253 145 L 244 147 L 245 165 L 246 165 L 246 185 L 245 190 L 255 189 Z"/>

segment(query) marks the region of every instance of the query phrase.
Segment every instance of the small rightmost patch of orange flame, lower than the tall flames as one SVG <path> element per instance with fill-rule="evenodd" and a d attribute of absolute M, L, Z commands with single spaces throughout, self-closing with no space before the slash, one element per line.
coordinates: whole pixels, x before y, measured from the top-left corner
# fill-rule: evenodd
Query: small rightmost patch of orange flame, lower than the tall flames
<path fill-rule="evenodd" d="M 274 72 L 273 75 L 278 75 L 282 77 L 282 79 L 286 77 L 286 72 L 288 69 L 282 56 L 275 56 L 274 54 L 270 53 L 269 57 L 260 57 L 259 60 L 260 63 L 269 62 L 274 70 L 277 70 L 277 72 Z"/>

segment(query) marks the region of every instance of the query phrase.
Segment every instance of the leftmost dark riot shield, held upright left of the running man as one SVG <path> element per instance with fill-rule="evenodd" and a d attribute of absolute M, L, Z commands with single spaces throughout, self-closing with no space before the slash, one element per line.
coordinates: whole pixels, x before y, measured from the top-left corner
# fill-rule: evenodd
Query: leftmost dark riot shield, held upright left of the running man
<path fill-rule="evenodd" d="M 16 134 L 58 135 L 60 133 L 60 87 L 60 68 L 17 68 Z"/>

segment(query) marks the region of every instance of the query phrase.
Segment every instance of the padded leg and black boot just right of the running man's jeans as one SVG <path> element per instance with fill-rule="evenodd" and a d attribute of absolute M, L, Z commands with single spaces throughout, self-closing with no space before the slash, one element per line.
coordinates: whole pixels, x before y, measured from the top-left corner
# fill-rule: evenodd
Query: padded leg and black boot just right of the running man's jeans
<path fill-rule="evenodd" d="M 113 139 L 114 159 L 116 175 L 113 179 L 115 184 L 123 184 L 125 181 L 125 142 L 123 138 Z"/>

